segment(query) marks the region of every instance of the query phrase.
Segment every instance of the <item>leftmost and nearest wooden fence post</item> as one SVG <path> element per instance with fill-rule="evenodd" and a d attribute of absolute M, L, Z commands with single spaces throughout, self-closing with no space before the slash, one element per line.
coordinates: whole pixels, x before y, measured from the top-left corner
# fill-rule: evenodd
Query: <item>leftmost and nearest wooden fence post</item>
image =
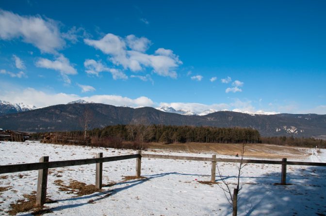
<path fill-rule="evenodd" d="M 43 156 L 39 162 L 49 162 L 49 156 Z M 38 170 L 36 205 L 42 206 L 47 198 L 48 168 Z"/>

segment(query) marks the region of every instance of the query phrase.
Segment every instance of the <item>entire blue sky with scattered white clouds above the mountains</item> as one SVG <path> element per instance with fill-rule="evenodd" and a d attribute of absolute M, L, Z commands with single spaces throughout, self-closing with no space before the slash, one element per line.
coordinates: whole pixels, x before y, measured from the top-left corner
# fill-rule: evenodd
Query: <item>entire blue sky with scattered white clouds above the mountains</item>
<path fill-rule="evenodd" d="M 0 0 L 0 100 L 326 114 L 325 9 Z"/>

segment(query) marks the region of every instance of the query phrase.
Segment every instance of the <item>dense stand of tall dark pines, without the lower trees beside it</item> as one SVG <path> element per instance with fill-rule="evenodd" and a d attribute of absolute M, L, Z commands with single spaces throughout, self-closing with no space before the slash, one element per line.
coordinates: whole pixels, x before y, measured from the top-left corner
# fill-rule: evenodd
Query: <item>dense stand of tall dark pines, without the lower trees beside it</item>
<path fill-rule="evenodd" d="M 211 126 L 172 126 L 118 124 L 95 128 L 87 132 L 90 137 L 114 138 L 131 142 L 162 143 L 260 143 L 258 130 L 251 128 L 218 128 Z"/>

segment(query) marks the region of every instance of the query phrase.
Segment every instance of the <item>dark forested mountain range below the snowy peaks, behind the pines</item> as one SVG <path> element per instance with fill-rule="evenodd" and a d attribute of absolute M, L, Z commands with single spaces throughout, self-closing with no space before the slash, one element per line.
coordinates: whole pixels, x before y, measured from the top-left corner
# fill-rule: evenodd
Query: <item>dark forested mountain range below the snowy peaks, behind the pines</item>
<path fill-rule="evenodd" d="M 155 108 L 115 107 L 97 103 L 70 103 L 0 116 L 0 127 L 28 132 L 81 130 L 88 113 L 90 128 L 115 124 L 166 124 L 216 127 L 250 127 L 261 136 L 326 136 L 326 115 L 254 115 L 218 111 L 207 115 L 180 115 Z"/>

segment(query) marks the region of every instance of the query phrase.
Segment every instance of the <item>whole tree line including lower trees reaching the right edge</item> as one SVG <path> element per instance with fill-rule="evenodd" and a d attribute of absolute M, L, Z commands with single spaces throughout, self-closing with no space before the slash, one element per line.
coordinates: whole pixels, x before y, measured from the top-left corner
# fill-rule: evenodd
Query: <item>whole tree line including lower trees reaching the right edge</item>
<path fill-rule="evenodd" d="M 84 138 L 84 131 L 59 132 L 67 137 Z M 42 139 L 44 133 L 31 134 L 32 139 Z M 91 145 L 121 146 L 128 142 L 144 144 L 148 142 L 161 143 L 267 143 L 287 146 L 303 146 L 326 148 L 326 140 L 296 137 L 261 137 L 260 133 L 251 128 L 218 128 L 212 126 L 172 126 L 172 125 L 142 125 L 118 124 L 95 128 L 87 131 Z"/>

